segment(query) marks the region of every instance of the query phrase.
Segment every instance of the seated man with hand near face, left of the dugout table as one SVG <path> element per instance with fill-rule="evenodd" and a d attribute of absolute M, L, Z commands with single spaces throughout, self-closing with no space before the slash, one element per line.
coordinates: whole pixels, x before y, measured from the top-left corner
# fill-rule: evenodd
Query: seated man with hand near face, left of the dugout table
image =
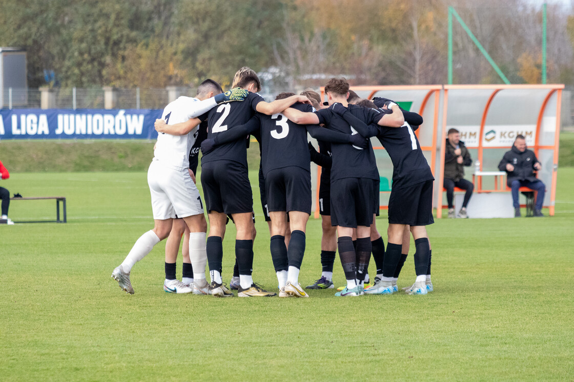
<path fill-rule="evenodd" d="M 466 190 L 463 205 L 456 216 L 468 217 L 466 206 L 472 196 L 474 185 L 464 179 L 464 166 L 470 166 L 472 164 L 472 159 L 468 153 L 468 149 L 464 146 L 464 142 L 460 141 L 460 133 L 456 128 L 448 130 L 447 143 L 445 147 L 443 186 L 447 189 L 448 217 L 455 217 L 455 209 L 452 204 L 455 186 Z"/>

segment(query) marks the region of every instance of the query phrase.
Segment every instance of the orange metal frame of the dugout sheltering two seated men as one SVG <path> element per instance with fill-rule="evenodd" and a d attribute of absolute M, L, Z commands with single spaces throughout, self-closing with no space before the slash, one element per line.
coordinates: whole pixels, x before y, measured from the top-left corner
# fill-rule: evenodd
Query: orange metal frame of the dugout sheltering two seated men
<path fill-rule="evenodd" d="M 484 107 L 484 111 L 482 113 L 482 118 L 480 120 L 480 133 L 479 133 L 479 141 L 478 141 L 478 160 L 480 161 L 480 170 L 482 170 L 482 157 L 483 157 L 483 146 L 482 146 L 482 137 L 484 134 L 484 126 L 486 125 L 486 118 L 488 115 L 488 110 L 492 104 L 492 100 L 494 97 L 500 92 L 501 90 L 505 89 L 545 89 L 548 90 L 548 95 L 542 102 L 540 107 L 540 111 L 538 112 L 538 119 L 536 122 L 536 137 L 534 139 L 534 153 L 538 156 L 538 150 L 540 149 L 551 149 L 554 150 L 553 156 L 553 164 L 557 165 L 558 163 L 558 147 L 559 147 L 559 135 L 560 135 L 560 107 L 561 107 L 561 100 L 562 100 L 562 89 L 564 89 L 563 84 L 557 85 L 444 85 L 444 103 L 443 103 L 443 127 L 442 127 L 442 136 L 443 141 L 446 139 L 446 128 L 447 128 L 447 110 L 448 110 L 448 91 L 450 89 L 453 90 L 482 90 L 482 89 L 492 89 L 492 94 L 487 100 L 486 106 Z M 541 146 L 539 145 L 539 138 L 540 138 L 540 130 L 542 124 L 542 117 L 544 116 L 544 111 L 546 109 L 546 105 L 550 100 L 550 97 L 557 92 L 557 100 L 556 100 L 556 134 L 554 134 L 554 145 L 553 146 Z M 503 147 L 488 147 L 488 149 L 507 149 L 507 146 Z M 443 176 L 443 169 L 444 169 L 444 145 L 441 145 L 441 155 L 440 155 L 440 171 L 439 171 L 439 185 L 443 184 L 444 176 Z M 550 186 L 550 205 L 549 205 L 549 215 L 554 215 L 554 200 L 556 198 L 556 171 L 552 171 L 552 185 Z M 496 192 L 496 190 L 483 190 L 482 189 L 482 179 L 480 177 L 476 177 L 476 192 Z M 436 216 L 438 219 L 442 217 L 443 213 L 443 188 L 440 187 L 440 192 L 438 193 L 437 197 L 437 212 Z"/>

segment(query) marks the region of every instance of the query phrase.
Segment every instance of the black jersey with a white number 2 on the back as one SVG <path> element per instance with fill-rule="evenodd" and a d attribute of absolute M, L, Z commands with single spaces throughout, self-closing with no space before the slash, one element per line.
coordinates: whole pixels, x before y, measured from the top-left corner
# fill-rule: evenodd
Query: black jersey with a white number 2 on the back
<path fill-rule="evenodd" d="M 207 119 L 207 138 L 214 139 L 221 132 L 245 124 L 256 112 L 259 102 L 265 101 L 258 93 L 249 93 L 245 100 L 239 102 L 226 102 L 212 108 L 199 117 Z M 247 166 L 247 139 L 238 139 L 216 146 L 212 151 L 203 155 L 202 163 L 225 159 L 235 161 Z"/>

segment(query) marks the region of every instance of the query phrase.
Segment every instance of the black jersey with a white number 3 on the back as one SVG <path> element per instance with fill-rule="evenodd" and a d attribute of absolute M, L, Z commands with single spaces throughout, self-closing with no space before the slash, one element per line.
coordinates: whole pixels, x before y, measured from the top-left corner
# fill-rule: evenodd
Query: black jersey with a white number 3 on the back
<path fill-rule="evenodd" d="M 303 112 L 313 112 L 309 104 L 291 106 Z M 307 145 L 307 128 L 291 122 L 281 113 L 260 114 L 263 174 L 282 167 L 296 166 L 311 171 L 311 154 Z"/>

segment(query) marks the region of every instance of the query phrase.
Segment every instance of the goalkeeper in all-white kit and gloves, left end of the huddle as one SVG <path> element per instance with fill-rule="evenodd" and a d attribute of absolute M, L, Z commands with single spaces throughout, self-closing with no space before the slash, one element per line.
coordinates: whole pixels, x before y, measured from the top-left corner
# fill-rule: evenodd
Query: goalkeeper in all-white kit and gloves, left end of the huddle
<path fill-rule="evenodd" d="M 212 107 L 234 98 L 245 97 L 246 92 L 222 93 L 218 83 L 205 80 L 197 88 L 196 98 L 180 97 L 165 107 L 162 119 L 166 123 L 184 122 L 209 111 Z M 207 294 L 205 280 L 205 216 L 201 197 L 189 176 L 189 150 L 195 140 L 195 130 L 185 135 L 159 134 L 154 150 L 154 158 L 148 170 L 148 185 L 152 195 L 154 228 L 144 233 L 135 242 L 133 248 L 114 269 L 112 278 L 126 293 L 133 294 L 130 282 L 131 268 L 143 259 L 154 245 L 168 237 L 172 220 L 177 216 L 183 218 L 189 227 L 189 254 L 193 264 L 193 289 L 176 279 L 175 267 L 165 266 L 164 290 L 170 293 L 204 293 Z"/>

